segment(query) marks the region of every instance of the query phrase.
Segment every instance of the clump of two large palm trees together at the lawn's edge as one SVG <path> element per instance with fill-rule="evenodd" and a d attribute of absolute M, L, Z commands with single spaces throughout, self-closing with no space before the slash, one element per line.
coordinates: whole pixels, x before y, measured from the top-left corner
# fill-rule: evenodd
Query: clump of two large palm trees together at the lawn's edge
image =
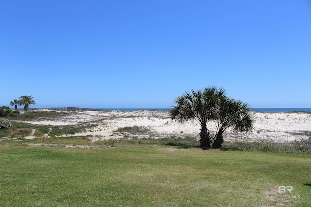
<path fill-rule="evenodd" d="M 200 146 L 203 149 L 221 148 L 223 133 L 229 127 L 241 132 L 254 129 L 248 104 L 230 98 L 223 88 L 206 87 L 203 90 L 185 92 L 175 99 L 175 103 L 170 111 L 171 119 L 180 122 L 198 121 L 201 125 Z M 207 129 L 208 122 L 215 123 L 216 133 Z"/>

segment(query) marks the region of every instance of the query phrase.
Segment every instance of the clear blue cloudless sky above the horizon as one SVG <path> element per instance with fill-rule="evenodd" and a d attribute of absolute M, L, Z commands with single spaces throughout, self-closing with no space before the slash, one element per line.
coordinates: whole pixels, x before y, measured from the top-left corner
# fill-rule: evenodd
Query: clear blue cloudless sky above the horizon
<path fill-rule="evenodd" d="M 311 108 L 310 0 L 0 0 L 0 105 Z M 34 106 L 31 106 L 34 107 Z"/>

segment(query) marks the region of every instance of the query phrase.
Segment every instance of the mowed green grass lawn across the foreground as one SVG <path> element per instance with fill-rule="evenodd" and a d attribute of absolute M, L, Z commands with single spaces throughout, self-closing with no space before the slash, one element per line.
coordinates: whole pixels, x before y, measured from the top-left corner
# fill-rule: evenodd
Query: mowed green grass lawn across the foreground
<path fill-rule="evenodd" d="M 279 193 L 279 186 L 292 192 Z M 311 206 L 311 155 L 0 145 L 0 206 Z"/>

